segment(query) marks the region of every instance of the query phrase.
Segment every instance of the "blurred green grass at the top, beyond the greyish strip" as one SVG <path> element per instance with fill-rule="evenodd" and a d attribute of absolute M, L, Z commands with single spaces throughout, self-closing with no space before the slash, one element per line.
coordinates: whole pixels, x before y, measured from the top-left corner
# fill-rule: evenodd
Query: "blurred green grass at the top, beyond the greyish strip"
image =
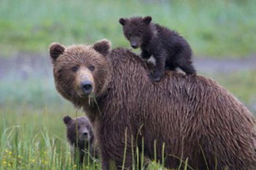
<path fill-rule="evenodd" d="M 51 42 L 70 45 L 103 38 L 114 47 L 129 47 L 119 18 L 151 15 L 179 31 L 195 55 L 246 57 L 256 53 L 255 8 L 254 0 L 1 0 L 0 52 L 41 53 Z"/>

